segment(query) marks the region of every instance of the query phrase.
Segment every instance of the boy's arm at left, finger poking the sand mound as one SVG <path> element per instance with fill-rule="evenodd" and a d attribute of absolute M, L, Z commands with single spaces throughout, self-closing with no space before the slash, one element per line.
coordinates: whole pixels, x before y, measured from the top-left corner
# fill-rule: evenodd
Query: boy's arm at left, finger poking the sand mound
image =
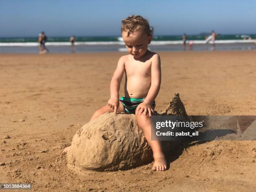
<path fill-rule="evenodd" d="M 124 71 L 125 59 L 124 56 L 122 56 L 118 61 L 117 68 L 115 69 L 110 83 L 110 100 L 108 101 L 108 106 L 114 109 L 114 113 L 116 113 L 119 106 L 119 90 Z"/>

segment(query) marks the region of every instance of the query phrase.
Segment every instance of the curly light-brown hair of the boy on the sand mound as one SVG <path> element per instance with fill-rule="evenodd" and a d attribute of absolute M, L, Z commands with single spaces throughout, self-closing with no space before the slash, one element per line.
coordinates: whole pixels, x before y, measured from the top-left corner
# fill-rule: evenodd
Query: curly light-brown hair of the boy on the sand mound
<path fill-rule="evenodd" d="M 149 26 L 148 20 L 141 17 L 141 15 L 131 15 L 122 20 L 121 33 L 126 31 L 130 36 L 131 33 L 135 32 L 138 26 L 144 28 L 144 32 L 148 36 L 153 35 L 154 28 Z"/>

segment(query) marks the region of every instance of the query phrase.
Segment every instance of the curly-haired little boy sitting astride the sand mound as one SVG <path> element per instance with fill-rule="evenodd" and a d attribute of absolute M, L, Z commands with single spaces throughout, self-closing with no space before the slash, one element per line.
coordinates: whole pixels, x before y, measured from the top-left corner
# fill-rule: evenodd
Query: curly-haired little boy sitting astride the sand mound
<path fill-rule="evenodd" d="M 108 105 L 98 109 L 91 120 L 106 112 L 135 114 L 138 127 L 151 146 L 154 157 L 152 170 L 166 170 L 166 159 L 161 141 L 151 141 L 151 116 L 161 84 L 161 61 L 157 53 L 148 50 L 153 28 L 148 20 L 131 15 L 122 20 L 121 33 L 128 55 L 122 56 L 110 83 Z M 119 98 L 120 83 L 125 74 L 125 97 Z M 129 125 L 127 125 L 129 126 Z M 69 148 L 65 148 L 67 152 Z"/>

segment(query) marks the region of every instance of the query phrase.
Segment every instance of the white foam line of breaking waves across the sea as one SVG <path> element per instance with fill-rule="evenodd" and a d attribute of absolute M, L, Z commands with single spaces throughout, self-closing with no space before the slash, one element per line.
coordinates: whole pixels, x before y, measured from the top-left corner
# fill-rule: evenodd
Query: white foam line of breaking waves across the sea
<path fill-rule="evenodd" d="M 119 40 L 119 38 L 118 38 Z M 255 40 L 216 40 L 215 44 L 234 44 L 234 43 L 254 43 Z M 188 43 L 189 41 L 187 41 Z M 205 40 L 195 40 L 194 44 L 206 44 Z M 208 43 L 212 44 L 212 41 Z M 161 45 L 179 45 L 183 44 L 183 41 L 151 41 L 152 46 Z M 87 42 L 75 42 L 75 45 L 124 45 L 123 41 L 87 41 Z M 0 43 L 0 46 L 39 46 L 36 42 L 22 42 L 22 43 Z M 46 42 L 46 46 L 71 46 L 69 42 Z"/>

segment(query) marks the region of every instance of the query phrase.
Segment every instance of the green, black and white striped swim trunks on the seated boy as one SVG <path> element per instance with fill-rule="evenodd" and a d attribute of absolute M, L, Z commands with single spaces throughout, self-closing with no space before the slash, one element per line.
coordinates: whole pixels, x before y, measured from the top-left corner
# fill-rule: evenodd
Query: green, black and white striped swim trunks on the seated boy
<path fill-rule="evenodd" d="M 135 110 L 139 104 L 141 104 L 145 98 L 126 98 L 126 97 L 121 97 L 120 102 L 122 102 L 123 107 L 125 108 L 125 113 L 133 113 L 135 114 Z M 152 103 L 153 107 L 156 107 L 156 102 L 154 101 Z"/>

